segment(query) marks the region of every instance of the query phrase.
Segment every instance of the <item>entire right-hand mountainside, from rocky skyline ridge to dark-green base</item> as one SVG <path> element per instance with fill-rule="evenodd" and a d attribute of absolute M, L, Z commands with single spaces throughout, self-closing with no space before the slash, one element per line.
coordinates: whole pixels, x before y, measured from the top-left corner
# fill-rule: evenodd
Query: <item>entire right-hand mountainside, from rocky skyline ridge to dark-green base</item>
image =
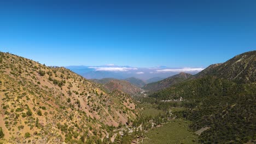
<path fill-rule="evenodd" d="M 207 128 L 200 143 L 246 143 L 255 140 L 255 64 L 255 51 L 242 53 L 149 97 L 187 107 L 179 114 L 193 122 L 190 128 Z"/>

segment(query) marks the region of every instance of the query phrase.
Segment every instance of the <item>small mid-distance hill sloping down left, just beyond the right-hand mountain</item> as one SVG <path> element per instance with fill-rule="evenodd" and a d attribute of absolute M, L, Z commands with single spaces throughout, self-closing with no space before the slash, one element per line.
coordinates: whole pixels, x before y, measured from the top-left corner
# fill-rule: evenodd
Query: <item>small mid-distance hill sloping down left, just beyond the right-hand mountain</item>
<path fill-rule="evenodd" d="M 153 82 L 153 83 L 148 83 L 143 89 L 147 89 L 148 91 L 159 91 L 160 89 L 165 89 L 167 87 L 170 87 L 176 83 L 185 81 L 189 78 L 193 77 L 191 74 L 187 73 L 179 73 L 177 75 L 170 76 L 164 80 L 158 81 L 158 82 Z"/>

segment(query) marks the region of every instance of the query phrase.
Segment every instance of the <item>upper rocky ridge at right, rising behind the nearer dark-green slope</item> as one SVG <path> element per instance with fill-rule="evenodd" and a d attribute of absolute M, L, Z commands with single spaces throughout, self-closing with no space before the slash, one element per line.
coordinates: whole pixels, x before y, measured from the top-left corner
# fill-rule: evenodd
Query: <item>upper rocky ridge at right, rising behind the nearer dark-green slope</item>
<path fill-rule="evenodd" d="M 237 55 L 225 63 L 210 65 L 197 77 L 214 75 L 239 83 L 256 82 L 256 51 Z"/>

